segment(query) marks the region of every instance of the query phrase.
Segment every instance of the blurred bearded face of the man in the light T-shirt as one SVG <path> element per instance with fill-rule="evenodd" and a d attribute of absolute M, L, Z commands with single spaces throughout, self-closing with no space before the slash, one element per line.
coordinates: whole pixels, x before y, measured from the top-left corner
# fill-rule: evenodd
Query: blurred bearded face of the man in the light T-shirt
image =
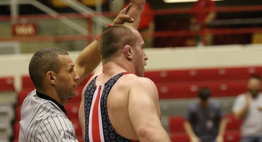
<path fill-rule="evenodd" d="M 256 97 L 261 89 L 261 81 L 256 78 L 251 78 L 248 81 L 248 90 L 252 97 Z"/>

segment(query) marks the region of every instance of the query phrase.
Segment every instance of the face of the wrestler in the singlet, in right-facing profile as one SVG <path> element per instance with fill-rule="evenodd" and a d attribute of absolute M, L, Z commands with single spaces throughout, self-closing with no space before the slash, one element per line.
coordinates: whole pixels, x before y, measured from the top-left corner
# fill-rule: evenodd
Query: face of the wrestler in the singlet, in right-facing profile
<path fill-rule="evenodd" d="M 144 48 L 144 41 L 141 37 L 141 34 L 133 30 L 135 36 L 137 37 L 136 45 L 135 45 L 135 54 L 134 54 L 134 60 L 135 60 L 135 73 L 139 77 L 144 77 L 144 71 L 145 71 L 145 65 L 146 65 L 146 60 L 148 60 L 148 57 L 146 56 L 143 48 Z"/>

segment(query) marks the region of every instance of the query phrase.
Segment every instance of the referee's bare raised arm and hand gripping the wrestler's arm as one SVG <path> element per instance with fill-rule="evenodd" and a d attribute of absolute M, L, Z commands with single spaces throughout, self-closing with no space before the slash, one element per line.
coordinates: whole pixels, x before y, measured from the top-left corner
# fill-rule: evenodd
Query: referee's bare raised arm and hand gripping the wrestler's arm
<path fill-rule="evenodd" d="M 124 21 L 132 22 L 134 19 L 130 15 L 125 15 L 131 5 L 121 10 L 111 25 L 122 24 Z M 79 75 L 80 84 L 100 63 L 101 58 L 98 50 L 98 41 L 89 44 L 77 57 L 74 70 Z"/>

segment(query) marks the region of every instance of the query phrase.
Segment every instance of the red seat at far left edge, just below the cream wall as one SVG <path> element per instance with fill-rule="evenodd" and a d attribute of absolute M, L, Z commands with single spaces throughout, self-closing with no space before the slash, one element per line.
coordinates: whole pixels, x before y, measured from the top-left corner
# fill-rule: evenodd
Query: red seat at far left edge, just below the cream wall
<path fill-rule="evenodd" d="M 14 78 L 1 77 L 0 78 L 0 92 L 13 92 L 14 91 Z"/>

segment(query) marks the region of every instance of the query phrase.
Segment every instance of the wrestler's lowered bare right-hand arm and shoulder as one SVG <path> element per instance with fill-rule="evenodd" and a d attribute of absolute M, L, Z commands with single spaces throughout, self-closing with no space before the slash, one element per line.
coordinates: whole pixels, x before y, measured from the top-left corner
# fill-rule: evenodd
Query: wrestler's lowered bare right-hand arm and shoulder
<path fill-rule="evenodd" d="M 130 83 L 128 113 L 140 142 L 170 142 L 161 125 L 158 92 L 153 81 L 137 78 Z"/>

